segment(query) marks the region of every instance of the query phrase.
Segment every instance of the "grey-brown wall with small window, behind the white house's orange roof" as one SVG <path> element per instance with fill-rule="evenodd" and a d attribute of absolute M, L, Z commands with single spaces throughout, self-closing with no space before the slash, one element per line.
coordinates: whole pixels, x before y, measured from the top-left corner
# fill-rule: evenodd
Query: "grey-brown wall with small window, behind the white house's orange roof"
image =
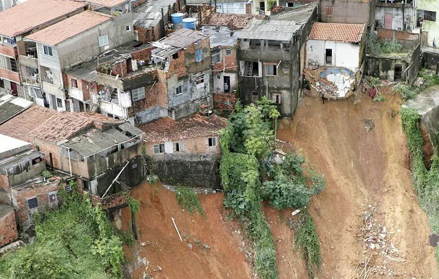
<path fill-rule="evenodd" d="M 319 21 L 324 23 L 366 23 L 375 25 L 375 0 L 333 1 L 320 0 Z M 333 15 L 327 16 L 327 7 L 333 7 Z"/>

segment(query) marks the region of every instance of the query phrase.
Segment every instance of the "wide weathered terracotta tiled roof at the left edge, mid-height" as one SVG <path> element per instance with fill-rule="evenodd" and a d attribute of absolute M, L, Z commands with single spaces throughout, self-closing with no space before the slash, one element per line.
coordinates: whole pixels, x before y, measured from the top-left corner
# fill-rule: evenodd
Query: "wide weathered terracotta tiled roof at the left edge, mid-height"
<path fill-rule="evenodd" d="M 34 105 L 0 125 L 0 133 L 34 143 L 34 137 L 58 143 L 91 128 L 93 123 L 123 123 L 101 114 L 58 112 Z"/>

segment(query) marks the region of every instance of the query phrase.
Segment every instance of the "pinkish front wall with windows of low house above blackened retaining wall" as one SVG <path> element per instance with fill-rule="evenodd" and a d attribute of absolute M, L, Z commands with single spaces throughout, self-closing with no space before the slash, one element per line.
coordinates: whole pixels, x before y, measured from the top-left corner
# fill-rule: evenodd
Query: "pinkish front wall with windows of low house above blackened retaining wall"
<path fill-rule="evenodd" d="M 190 154 L 190 153 L 208 153 L 208 154 L 217 154 L 219 153 L 219 138 L 218 136 L 211 136 L 213 138 L 216 138 L 216 146 L 215 147 L 209 147 L 208 145 L 208 139 L 209 136 L 201 136 L 197 138 L 187 138 L 180 141 L 173 141 L 174 145 L 174 151 L 176 148 L 176 143 L 180 143 L 180 146 L 185 146 L 185 151 L 179 151 L 175 152 L 175 154 Z M 159 143 L 146 143 L 145 149 L 146 154 L 148 156 L 154 155 L 154 145 L 157 145 Z M 157 154 L 155 154 L 157 155 Z"/>

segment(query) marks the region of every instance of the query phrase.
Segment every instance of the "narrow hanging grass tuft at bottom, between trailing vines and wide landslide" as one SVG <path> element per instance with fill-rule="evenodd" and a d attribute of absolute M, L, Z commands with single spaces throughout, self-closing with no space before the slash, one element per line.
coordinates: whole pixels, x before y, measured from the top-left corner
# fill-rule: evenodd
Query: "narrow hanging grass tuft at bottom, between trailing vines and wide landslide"
<path fill-rule="evenodd" d="M 293 251 L 297 250 L 303 253 L 310 278 L 316 278 L 317 271 L 322 265 L 320 241 L 316 232 L 316 223 L 307 210 L 303 210 L 299 215 L 293 247 Z"/>

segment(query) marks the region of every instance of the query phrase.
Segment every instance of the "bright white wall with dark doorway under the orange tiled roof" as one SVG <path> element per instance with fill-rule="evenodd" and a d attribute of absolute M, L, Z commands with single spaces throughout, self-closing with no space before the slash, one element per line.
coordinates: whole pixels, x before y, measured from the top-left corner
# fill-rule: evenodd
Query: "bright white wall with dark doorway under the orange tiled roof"
<path fill-rule="evenodd" d="M 332 64 L 344 68 L 359 68 L 360 46 L 353 43 L 341 43 L 330 40 L 307 41 L 307 64 L 310 60 L 326 65 L 326 49 L 332 49 Z"/>

